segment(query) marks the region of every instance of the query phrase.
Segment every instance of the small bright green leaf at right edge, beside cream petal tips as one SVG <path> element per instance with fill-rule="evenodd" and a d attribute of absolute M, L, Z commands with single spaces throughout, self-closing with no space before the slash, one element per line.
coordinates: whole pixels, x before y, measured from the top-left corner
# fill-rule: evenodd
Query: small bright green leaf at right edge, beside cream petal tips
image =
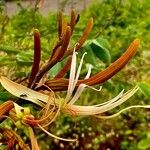
<path fill-rule="evenodd" d="M 148 83 L 139 83 L 138 84 L 140 91 L 147 97 L 150 98 L 150 84 Z"/>

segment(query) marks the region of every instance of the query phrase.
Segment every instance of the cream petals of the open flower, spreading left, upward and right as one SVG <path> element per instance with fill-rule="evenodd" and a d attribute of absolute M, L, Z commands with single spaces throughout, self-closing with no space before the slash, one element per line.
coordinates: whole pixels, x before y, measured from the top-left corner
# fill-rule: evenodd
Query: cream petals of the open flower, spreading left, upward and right
<path fill-rule="evenodd" d="M 86 53 L 85 53 L 86 54 Z M 92 106 L 80 106 L 80 105 L 76 105 L 75 102 L 79 99 L 82 91 L 85 89 L 85 87 L 87 87 L 88 85 L 81 83 L 79 84 L 75 94 L 73 95 L 73 91 L 76 88 L 76 84 L 78 83 L 78 78 L 79 78 L 79 74 L 82 68 L 82 64 L 83 64 L 83 59 L 85 54 L 83 54 L 82 58 L 81 58 L 81 62 L 79 64 L 78 70 L 76 71 L 76 55 L 77 53 L 73 52 L 72 55 L 72 62 L 71 62 L 71 70 L 70 70 L 70 77 L 69 77 L 69 85 L 68 85 L 68 90 L 67 90 L 67 95 L 66 98 L 49 98 L 48 95 L 31 90 L 23 85 L 17 84 L 11 80 L 9 80 L 6 77 L 1 77 L 0 81 L 1 84 L 3 85 L 3 87 L 9 91 L 11 94 L 25 99 L 25 100 L 29 100 L 41 107 L 44 107 L 46 104 L 50 103 L 50 105 L 52 105 L 53 107 L 57 107 L 57 109 L 60 109 L 60 111 L 67 113 L 67 114 L 75 114 L 75 115 L 98 115 L 104 112 L 107 112 L 117 106 L 119 106 L 120 104 L 124 103 L 126 100 L 128 100 L 137 90 L 138 87 L 134 87 L 133 89 L 129 90 L 126 93 L 123 93 L 123 91 L 121 91 L 121 93 L 116 96 L 115 98 L 102 103 L 102 104 L 97 104 L 97 105 L 92 105 Z M 88 79 L 90 77 L 90 73 L 91 73 L 91 66 L 89 66 L 88 69 L 88 73 L 85 77 L 85 79 Z M 88 86 L 90 87 L 90 86 Z M 99 90 L 90 87 L 96 91 L 100 91 L 101 88 Z M 22 97 L 22 95 L 25 95 L 24 97 Z"/>

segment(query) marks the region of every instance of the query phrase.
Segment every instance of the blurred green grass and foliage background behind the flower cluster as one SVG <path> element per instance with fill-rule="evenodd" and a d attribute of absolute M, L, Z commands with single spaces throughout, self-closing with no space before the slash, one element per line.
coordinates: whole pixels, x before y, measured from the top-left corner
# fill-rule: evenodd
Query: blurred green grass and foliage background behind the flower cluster
<path fill-rule="evenodd" d="M 47 0 L 48 1 L 48 0 Z M 71 43 L 82 35 L 87 21 L 94 18 L 94 27 L 80 50 L 79 58 L 87 51 L 81 78 L 87 72 L 87 64 L 93 65 L 92 74 L 103 70 L 116 60 L 138 38 L 141 41 L 136 56 L 115 77 L 105 82 L 97 93 L 86 89 L 78 103 L 96 104 L 115 97 L 122 89 L 139 85 L 138 91 L 129 101 L 108 114 L 135 104 L 150 104 L 150 0 L 91 0 L 91 1 L 50 1 L 52 8 L 40 6 L 34 1 L 22 3 L 0 1 L 0 75 L 11 79 L 28 75 L 33 57 L 32 29 L 41 33 L 42 61 L 45 62 L 57 39 L 57 11 L 64 11 L 69 19 L 71 8 L 80 13 Z M 82 5 L 81 5 L 82 4 Z M 11 6 L 11 7 L 10 7 Z M 80 6 L 80 7 L 79 7 Z M 8 9 L 9 8 L 9 9 Z M 14 11 L 10 12 L 10 8 Z M 41 11 L 43 10 L 43 11 Z M 96 41 L 96 44 L 95 44 Z M 79 59 L 78 58 L 78 59 Z M 53 77 L 62 67 L 53 67 Z M 10 98 L 0 87 L 0 102 Z M 150 111 L 129 110 L 109 120 L 94 117 L 73 119 L 61 115 L 51 126 L 51 131 L 64 137 L 78 137 L 79 143 L 57 141 L 38 133 L 38 141 L 46 149 L 101 149 L 101 150 L 148 150 L 150 149 Z"/>

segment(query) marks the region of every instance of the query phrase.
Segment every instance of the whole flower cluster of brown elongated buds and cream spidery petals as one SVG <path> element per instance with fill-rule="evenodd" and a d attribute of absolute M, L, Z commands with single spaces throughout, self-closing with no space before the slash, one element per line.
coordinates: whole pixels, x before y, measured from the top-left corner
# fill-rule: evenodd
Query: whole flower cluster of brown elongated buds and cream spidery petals
<path fill-rule="evenodd" d="M 88 87 L 96 92 L 101 91 L 100 89 L 95 89 L 92 85 L 100 84 L 112 76 L 114 76 L 117 72 L 119 72 L 127 62 L 134 56 L 136 50 L 139 46 L 139 40 L 135 39 L 127 51 L 115 62 L 113 62 L 109 67 L 105 70 L 97 73 L 96 75 L 91 76 L 92 67 L 89 65 L 87 74 L 84 79 L 79 80 L 79 75 L 82 69 L 82 64 L 84 61 L 83 54 L 81 61 L 77 68 L 77 50 L 83 45 L 84 41 L 88 37 L 92 26 L 93 19 L 91 18 L 87 24 L 87 27 L 81 36 L 81 38 L 77 41 L 76 45 L 72 48 L 68 48 L 70 38 L 73 34 L 73 30 L 75 28 L 76 23 L 79 20 L 79 15 L 76 15 L 74 11 L 71 12 L 71 21 L 69 23 L 62 21 L 62 14 L 58 15 L 58 41 L 53 48 L 52 55 L 49 60 L 40 68 L 40 57 L 41 57 L 41 44 L 40 44 L 40 33 L 37 29 L 34 30 L 34 61 L 32 65 L 32 70 L 30 76 L 27 78 L 28 86 L 24 86 L 22 84 L 16 83 L 8 79 L 7 77 L 1 77 L 0 83 L 2 86 L 12 95 L 18 97 L 19 99 L 14 102 L 12 100 L 8 100 L 0 105 L 0 121 L 3 121 L 5 118 L 11 119 L 16 127 L 24 126 L 28 129 L 29 136 L 31 139 L 31 148 L 32 149 L 40 149 L 38 146 L 38 142 L 36 140 L 34 129 L 35 127 L 40 128 L 43 132 L 48 134 L 49 136 L 64 140 L 74 142 L 77 139 L 64 139 L 58 137 L 48 130 L 48 127 L 52 122 L 56 120 L 56 117 L 61 113 L 65 113 L 68 115 L 76 115 L 76 116 L 96 116 L 99 118 L 112 118 L 119 115 L 121 112 L 135 107 L 144 107 L 150 108 L 149 105 L 146 106 L 130 106 L 127 107 L 117 114 L 112 116 L 102 116 L 101 114 L 107 112 L 125 101 L 127 101 L 134 93 L 138 90 L 138 87 L 135 86 L 133 89 L 124 93 L 121 91 L 119 95 L 114 97 L 111 100 L 108 100 L 104 103 L 91 105 L 91 106 L 81 106 L 77 105 L 76 101 L 79 100 L 80 95 L 83 90 Z M 62 68 L 62 70 L 56 75 L 54 79 L 45 79 L 44 75 L 50 70 L 55 64 L 59 61 L 62 61 L 64 58 L 69 57 L 66 65 Z M 69 79 L 64 78 L 65 73 L 70 69 Z M 41 79 L 44 78 L 44 83 L 41 83 Z M 42 92 L 41 92 L 42 90 Z M 49 91 L 48 93 L 45 91 Z M 55 91 L 66 90 L 66 97 L 60 97 L 55 94 Z M 32 102 L 35 105 L 38 105 L 40 108 L 38 112 L 40 112 L 40 117 L 37 115 L 33 115 L 29 108 L 25 108 L 23 106 L 19 106 L 17 102 L 19 100 L 26 100 Z M 0 129 L 1 133 L 4 133 L 4 138 L 8 141 L 8 148 L 14 148 L 14 145 L 17 144 L 21 149 L 28 150 L 29 145 L 26 145 L 21 137 L 14 132 L 13 130 L 2 128 Z M 14 137 L 13 142 L 11 142 L 12 137 Z"/>

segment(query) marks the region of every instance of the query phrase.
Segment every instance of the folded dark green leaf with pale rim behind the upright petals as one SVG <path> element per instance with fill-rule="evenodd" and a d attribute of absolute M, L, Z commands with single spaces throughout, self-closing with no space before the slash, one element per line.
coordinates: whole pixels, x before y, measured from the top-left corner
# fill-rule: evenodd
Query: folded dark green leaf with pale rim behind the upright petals
<path fill-rule="evenodd" d="M 106 64 L 111 63 L 111 55 L 109 52 L 110 45 L 106 39 L 103 38 L 94 39 L 90 43 L 90 47 L 92 48 L 97 58 L 99 58 Z"/>

